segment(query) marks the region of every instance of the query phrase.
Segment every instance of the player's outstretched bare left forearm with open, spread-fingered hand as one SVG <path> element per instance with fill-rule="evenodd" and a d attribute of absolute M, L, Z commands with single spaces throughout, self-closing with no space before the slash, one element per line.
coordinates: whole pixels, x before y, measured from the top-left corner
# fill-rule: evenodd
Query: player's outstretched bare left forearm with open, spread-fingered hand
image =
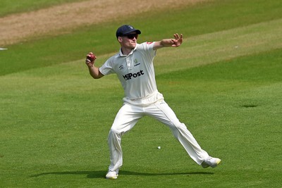
<path fill-rule="evenodd" d="M 183 42 L 183 35 L 178 33 L 174 34 L 174 39 L 162 39 L 161 41 L 154 42 L 154 50 L 161 49 L 164 47 L 178 47 Z"/>

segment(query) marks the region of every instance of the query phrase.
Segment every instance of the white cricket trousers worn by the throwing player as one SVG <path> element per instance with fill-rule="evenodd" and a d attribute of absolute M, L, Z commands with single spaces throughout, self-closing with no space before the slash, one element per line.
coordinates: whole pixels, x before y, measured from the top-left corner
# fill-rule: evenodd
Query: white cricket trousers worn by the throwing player
<path fill-rule="evenodd" d="M 180 123 L 176 114 L 165 101 L 149 106 L 135 106 L 124 104 L 116 114 L 113 125 L 109 132 L 108 144 L 110 150 L 111 165 L 109 170 L 117 170 L 123 165 L 123 151 L 121 149 L 121 137 L 125 132 L 131 130 L 137 121 L 145 115 L 149 115 L 161 123 L 167 125 L 173 132 L 174 137 L 183 145 L 189 156 L 201 164 L 209 154 L 201 149 L 196 139 L 187 129 L 184 123 Z"/>

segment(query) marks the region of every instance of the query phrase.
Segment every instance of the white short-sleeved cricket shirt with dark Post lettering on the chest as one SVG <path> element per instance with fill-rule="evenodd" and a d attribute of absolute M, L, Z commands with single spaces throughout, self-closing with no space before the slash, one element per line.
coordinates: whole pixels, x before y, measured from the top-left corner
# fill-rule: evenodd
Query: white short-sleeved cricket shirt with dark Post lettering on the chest
<path fill-rule="evenodd" d="M 153 60 L 154 42 L 136 44 L 130 54 L 121 50 L 99 68 L 103 75 L 116 73 L 124 89 L 123 101 L 135 105 L 149 105 L 164 99 L 157 91 Z"/>

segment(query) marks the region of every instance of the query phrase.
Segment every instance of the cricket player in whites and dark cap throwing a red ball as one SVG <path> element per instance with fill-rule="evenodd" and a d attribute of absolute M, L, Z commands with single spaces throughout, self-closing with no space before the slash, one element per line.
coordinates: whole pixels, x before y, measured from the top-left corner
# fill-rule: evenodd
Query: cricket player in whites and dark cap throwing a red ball
<path fill-rule="evenodd" d="M 167 125 L 178 139 L 185 151 L 203 168 L 219 165 L 221 160 L 213 158 L 204 151 L 187 129 L 180 123 L 176 114 L 164 101 L 158 91 L 154 73 L 154 57 L 158 49 L 178 47 L 183 42 L 183 35 L 174 34 L 173 39 L 162 39 L 158 42 L 137 43 L 140 30 L 131 25 L 122 25 L 116 30 L 116 39 L 121 44 L 119 52 L 111 56 L 100 68 L 94 65 L 95 58 L 87 55 L 86 65 L 90 75 L 99 79 L 104 75 L 116 74 L 124 89 L 123 106 L 120 108 L 109 131 L 108 144 L 110 151 L 107 179 L 116 179 L 118 170 L 123 165 L 121 137 L 131 130 L 137 121 L 145 115 Z"/>

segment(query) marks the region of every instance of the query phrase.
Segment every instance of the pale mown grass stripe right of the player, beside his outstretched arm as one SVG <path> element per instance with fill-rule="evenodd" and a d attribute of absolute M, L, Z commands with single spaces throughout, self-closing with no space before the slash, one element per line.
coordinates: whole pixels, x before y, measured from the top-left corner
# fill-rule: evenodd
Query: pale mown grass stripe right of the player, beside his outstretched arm
<path fill-rule="evenodd" d="M 282 19 L 278 19 L 232 30 L 188 37 L 183 46 L 176 50 L 158 51 L 155 63 L 157 73 L 168 73 L 173 70 L 281 48 Z"/>

